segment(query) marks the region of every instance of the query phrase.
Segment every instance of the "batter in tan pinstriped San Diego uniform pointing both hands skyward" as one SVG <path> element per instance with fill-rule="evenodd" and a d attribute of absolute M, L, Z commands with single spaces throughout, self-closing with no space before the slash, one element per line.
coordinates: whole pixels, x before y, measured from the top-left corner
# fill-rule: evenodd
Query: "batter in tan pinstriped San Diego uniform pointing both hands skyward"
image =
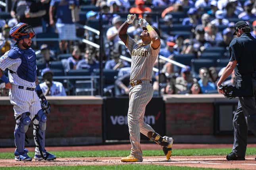
<path fill-rule="evenodd" d="M 131 53 L 131 76 L 129 89 L 128 126 L 131 141 L 131 153 L 121 159 L 122 162 L 141 162 L 142 151 L 140 145 L 140 132 L 162 146 L 166 159 L 171 157 L 173 139 L 160 136 L 150 125 L 144 122 L 146 105 L 153 96 L 151 84 L 152 69 L 160 51 L 160 32 L 150 26 L 145 19 L 139 19 L 143 28 L 139 42 L 127 35 L 128 26 L 134 21 L 136 15 L 128 15 L 127 21 L 118 30 L 120 39 L 125 43 Z"/>

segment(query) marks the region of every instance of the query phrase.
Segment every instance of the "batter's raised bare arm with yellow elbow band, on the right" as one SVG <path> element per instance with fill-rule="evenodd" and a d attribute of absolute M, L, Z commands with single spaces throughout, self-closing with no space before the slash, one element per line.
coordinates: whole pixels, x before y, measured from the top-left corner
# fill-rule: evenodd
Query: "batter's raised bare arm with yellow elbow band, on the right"
<path fill-rule="evenodd" d="M 157 49 L 160 45 L 160 36 L 158 36 L 158 32 L 156 32 L 156 30 L 154 29 L 154 27 L 152 27 L 151 25 L 149 25 L 149 23 L 145 20 L 140 18 L 139 19 L 139 25 L 143 28 L 143 30 L 146 28 L 146 30 L 148 30 L 149 36 L 151 38 L 151 46 L 154 49 Z"/>

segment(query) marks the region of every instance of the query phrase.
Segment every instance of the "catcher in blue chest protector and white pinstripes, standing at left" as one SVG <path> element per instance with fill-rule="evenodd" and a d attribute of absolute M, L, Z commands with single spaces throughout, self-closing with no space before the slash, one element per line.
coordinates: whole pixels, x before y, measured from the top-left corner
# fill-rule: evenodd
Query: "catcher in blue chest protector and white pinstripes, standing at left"
<path fill-rule="evenodd" d="M 31 38 L 35 36 L 35 32 L 30 25 L 18 23 L 10 30 L 10 36 L 16 40 L 16 43 L 10 51 L 0 57 L 0 77 L 5 82 L 5 87 L 10 89 L 9 97 L 16 119 L 15 160 L 32 160 L 27 155 L 28 150 L 24 147 L 25 133 L 31 121 L 34 125 L 33 135 L 36 144 L 35 160 L 56 159 L 55 155 L 44 148 L 46 113 L 50 113 L 50 104 L 38 84 L 36 55 L 35 51 L 30 48 Z M 6 68 L 9 69 L 9 79 L 2 72 Z"/>

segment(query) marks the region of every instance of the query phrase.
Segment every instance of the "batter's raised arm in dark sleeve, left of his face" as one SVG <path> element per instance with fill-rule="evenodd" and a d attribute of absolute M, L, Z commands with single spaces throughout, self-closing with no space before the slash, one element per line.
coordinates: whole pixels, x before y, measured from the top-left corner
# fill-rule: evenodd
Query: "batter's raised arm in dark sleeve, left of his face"
<path fill-rule="evenodd" d="M 120 26 L 119 30 L 118 30 L 118 36 L 119 38 L 125 43 L 125 45 L 127 45 L 127 28 L 128 26 L 133 23 L 134 19 L 135 19 L 136 15 L 133 14 L 129 14 L 127 15 L 127 20 Z"/>

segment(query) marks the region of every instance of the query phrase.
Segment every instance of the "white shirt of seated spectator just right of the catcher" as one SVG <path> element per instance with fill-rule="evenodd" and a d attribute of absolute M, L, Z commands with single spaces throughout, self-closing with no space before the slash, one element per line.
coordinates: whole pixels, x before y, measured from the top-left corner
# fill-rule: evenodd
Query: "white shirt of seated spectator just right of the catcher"
<path fill-rule="evenodd" d="M 46 85 L 46 83 L 40 83 L 40 87 L 42 89 L 42 92 L 45 93 L 48 91 L 49 87 Z M 58 81 L 52 81 L 52 87 L 50 89 L 50 95 L 51 96 L 66 96 L 65 89 L 62 85 L 62 83 Z"/>

